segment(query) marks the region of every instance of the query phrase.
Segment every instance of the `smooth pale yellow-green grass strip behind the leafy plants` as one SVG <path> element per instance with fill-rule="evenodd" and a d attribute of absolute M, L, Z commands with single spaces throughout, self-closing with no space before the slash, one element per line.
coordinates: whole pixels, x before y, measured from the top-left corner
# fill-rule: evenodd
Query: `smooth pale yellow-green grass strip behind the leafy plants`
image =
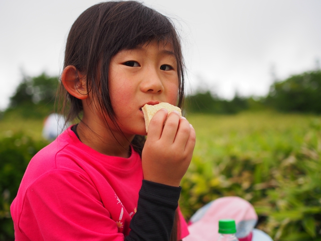
<path fill-rule="evenodd" d="M 293 135 L 300 138 L 311 121 L 319 118 L 315 115 L 282 114 L 273 111 L 243 112 L 237 115 L 188 114 L 187 117 L 197 132 L 195 152 L 204 150 L 208 144 L 224 146 L 233 141 L 230 138 L 242 140 L 249 135 L 266 135 L 267 132 L 279 132 L 283 138 Z M 23 118 L 19 113 L 13 112 L 0 119 L 0 138 L 11 132 L 25 132 L 37 140 L 42 139 L 43 122 L 44 119 Z"/>

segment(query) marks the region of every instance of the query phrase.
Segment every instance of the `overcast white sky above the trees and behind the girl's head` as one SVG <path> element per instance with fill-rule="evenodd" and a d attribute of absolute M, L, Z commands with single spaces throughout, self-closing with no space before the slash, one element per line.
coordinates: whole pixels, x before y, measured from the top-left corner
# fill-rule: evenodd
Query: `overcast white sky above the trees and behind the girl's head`
<path fill-rule="evenodd" d="M 59 75 L 76 18 L 95 0 L 0 0 L 0 109 L 22 73 Z M 140 1 L 142 2 L 142 1 Z M 317 67 L 320 0 L 146 0 L 175 18 L 189 89 L 208 86 L 225 98 L 265 95 L 278 79 Z"/>

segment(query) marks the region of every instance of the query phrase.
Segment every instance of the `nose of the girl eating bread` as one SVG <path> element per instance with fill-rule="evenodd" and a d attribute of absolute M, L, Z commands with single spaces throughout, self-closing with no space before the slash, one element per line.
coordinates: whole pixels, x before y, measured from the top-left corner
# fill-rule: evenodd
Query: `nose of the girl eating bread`
<path fill-rule="evenodd" d="M 158 76 L 156 71 L 148 71 L 148 73 L 143 76 L 140 89 L 148 93 L 162 93 L 164 91 L 164 85 L 161 76 Z"/>

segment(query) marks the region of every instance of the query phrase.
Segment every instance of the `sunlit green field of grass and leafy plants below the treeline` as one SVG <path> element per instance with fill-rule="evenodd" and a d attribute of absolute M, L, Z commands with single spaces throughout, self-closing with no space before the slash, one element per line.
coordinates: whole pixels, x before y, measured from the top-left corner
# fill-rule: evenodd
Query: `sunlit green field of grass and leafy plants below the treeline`
<path fill-rule="evenodd" d="M 187 118 L 197 133 L 182 181 L 187 219 L 215 198 L 236 195 L 254 205 L 258 228 L 273 240 L 321 240 L 321 116 L 262 111 Z M 42 124 L 5 116 L 0 140 L 22 131 L 41 142 Z"/>

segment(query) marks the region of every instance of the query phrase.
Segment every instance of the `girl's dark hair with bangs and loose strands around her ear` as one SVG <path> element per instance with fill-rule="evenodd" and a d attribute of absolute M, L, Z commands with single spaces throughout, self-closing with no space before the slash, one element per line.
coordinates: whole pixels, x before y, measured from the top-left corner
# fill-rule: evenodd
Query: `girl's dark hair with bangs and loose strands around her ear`
<path fill-rule="evenodd" d="M 64 68 L 73 65 L 86 76 L 87 90 L 93 96 L 96 107 L 102 110 L 101 118 L 105 119 L 106 126 L 107 114 L 119 128 L 108 88 L 111 58 L 121 50 L 133 49 L 155 40 L 159 44 L 170 43 L 173 46 L 178 63 L 178 106 L 181 107 L 184 100 L 184 61 L 179 36 L 169 18 L 135 1 L 106 2 L 84 11 L 72 25 L 67 38 Z M 66 123 L 75 118 L 81 119 L 81 100 L 69 94 L 62 84 L 60 97 L 63 101 L 62 111 L 67 112 Z M 144 137 L 136 135 L 132 141 L 139 154 L 144 140 Z"/>

